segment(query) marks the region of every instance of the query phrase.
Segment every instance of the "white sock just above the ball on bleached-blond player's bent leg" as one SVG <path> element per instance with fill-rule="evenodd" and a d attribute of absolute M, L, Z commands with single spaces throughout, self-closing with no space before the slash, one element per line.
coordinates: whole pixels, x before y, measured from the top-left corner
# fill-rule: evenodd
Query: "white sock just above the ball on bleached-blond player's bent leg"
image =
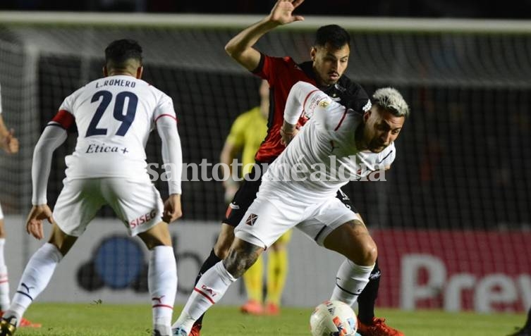
<path fill-rule="evenodd" d="M 372 268 L 374 265 L 360 266 L 348 259 L 343 261 L 337 271 L 336 286 L 330 299 L 339 300 L 352 306 L 369 282 Z"/>

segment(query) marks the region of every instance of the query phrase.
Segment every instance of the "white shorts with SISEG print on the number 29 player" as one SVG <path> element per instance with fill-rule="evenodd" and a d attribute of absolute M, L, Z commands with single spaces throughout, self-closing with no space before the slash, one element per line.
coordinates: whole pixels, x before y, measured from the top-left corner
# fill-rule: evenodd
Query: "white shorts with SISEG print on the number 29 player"
<path fill-rule="evenodd" d="M 151 181 L 124 178 L 63 180 L 54 220 L 67 235 L 79 237 L 104 205 L 126 225 L 129 235 L 145 232 L 162 221 L 164 206 Z"/>

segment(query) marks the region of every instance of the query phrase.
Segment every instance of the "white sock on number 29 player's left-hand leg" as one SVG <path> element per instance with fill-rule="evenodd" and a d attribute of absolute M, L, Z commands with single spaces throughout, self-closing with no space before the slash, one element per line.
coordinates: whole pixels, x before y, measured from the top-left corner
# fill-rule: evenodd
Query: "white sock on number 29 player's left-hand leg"
<path fill-rule="evenodd" d="M 13 302 L 4 316 L 16 316 L 20 322 L 28 306 L 37 298 L 48 285 L 51 275 L 63 259 L 63 255 L 55 245 L 46 243 L 38 249 L 28 261 L 28 265 L 22 273 L 17 292 L 13 296 Z"/>

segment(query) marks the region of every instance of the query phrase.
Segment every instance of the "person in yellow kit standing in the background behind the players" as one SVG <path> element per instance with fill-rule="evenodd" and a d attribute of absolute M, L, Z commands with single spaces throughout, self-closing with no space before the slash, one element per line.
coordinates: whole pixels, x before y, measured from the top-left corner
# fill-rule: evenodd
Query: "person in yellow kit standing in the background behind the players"
<path fill-rule="evenodd" d="M 260 85 L 260 106 L 242 113 L 231 127 L 231 132 L 221 151 L 221 163 L 225 163 L 232 170 L 231 163 L 238 155 L 243 164 L 242 175 L 248 174 L 255 163 L 255 154 L 267 133 L 267 115 L 269 113 L 269 85 L 262 80 Z M 232 171 L 230 172 L 232 176 Z M 224 182 L 225 201 L 233 199 L 238 190 L 238 182 L 229 178 Z M 267 254 L 267 297 L 263 298 L 263 268 L 264 262 L 260 257 L 256 263 L 245 272 L 243 281 L 247 290 L 248 301 L 240 310 L 253 315 L 276 315 L 280 313 L 280 301 L 286 275 L 288 274 L 288 251 L 286 245 L 291 238 L 291 231 L 280 237 Z"/>

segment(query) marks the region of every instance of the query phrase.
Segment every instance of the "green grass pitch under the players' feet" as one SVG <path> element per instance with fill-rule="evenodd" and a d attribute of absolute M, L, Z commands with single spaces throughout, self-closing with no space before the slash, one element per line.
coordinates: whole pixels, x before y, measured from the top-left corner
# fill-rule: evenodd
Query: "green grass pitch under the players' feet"
<path fill-rule="evenodd" d="M 176 307 L 175 316 L 181 311 Z M 312 309 L 282 309 L 280 316 L 244 316 L 234 306 L 215 306 L 205 318 L 202 336 L 310 335 Z M 523 325 L 525 314 L 446 313 L 378 309 L 405 336 L 503 336 Z M 42 328 L 19 328 L 16 336 L 149 336 L 149 305 L 39 304 L 25 317 Z"/>

